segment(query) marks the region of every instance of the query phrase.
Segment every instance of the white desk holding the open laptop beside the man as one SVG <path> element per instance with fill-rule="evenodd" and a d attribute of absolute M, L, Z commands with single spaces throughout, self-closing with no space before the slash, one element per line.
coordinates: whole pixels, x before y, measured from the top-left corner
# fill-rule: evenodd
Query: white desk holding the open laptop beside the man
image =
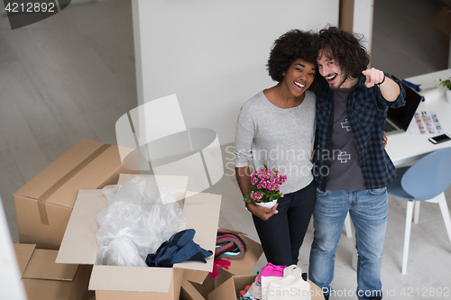
<path fill-rule="evenodd" d="M 409 77 L 406 78 L 406 80 L 409 80 L 416 85 L 420 84 L 421 89 L 424 90 L 435 87 L 438 84 L 438 79 L 446 79 L 448 77 L 451 77 L 451 68 L 416 77 Z M 451 133 L 451 105 L 446 102 L 446 95 L 442 95 L 435 99 L 426 98 L 425 102 L 420 103 L 418 111 L 435 111 L 445 132 Z M 445 141 L 434 145 L 428 141 L 429 137 L 430 136 L 410 135 L 409 132 L 389 135 L 385 150 L 389 154 L 393 164 L 399 166 L 421 159 L 435 150 L 451 147 L 451 141 Z"/>

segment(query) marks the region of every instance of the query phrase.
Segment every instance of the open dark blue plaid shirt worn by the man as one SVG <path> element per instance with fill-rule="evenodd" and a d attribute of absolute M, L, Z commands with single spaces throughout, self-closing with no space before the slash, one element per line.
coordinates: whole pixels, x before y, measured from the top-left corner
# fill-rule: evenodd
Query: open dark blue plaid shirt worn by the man
<path fill-rule="evenodd" d="M 389 76 L 385 74 L 385 76 Z M 396 177 L 396 169 L 383 148 L 383 125 L 389 106 L 405 104 L 405 91 L 394 102 L 386 101 L 377 86 L 366 87 L 362 75 L 346 101 L 346 118 L 351 126 L 359 152 L 360 168 L 367 189 L 387 186 Z M 317 187 L 326 190 L 328 167 L 332 150 L 332 124 L 334 122 L 334 92 L 326 84 L 317 91 L 317 133 L 313 156 L 313 173 Z"/>

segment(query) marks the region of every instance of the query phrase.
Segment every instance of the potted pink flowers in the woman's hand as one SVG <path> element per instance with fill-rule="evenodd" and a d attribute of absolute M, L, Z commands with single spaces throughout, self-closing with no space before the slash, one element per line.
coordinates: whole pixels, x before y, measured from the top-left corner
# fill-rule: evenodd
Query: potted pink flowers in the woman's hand
<path fill-rule="evenodd" d="M 286 175 L 281 175 L 277 168 L 269 169 L 263 163 L 263 168 L 251 174 L 249 194 L 244 196 L 245 203 L 262 205 L 272 208 L 277 199 L 283 197 L 281 184 L 287 181 Z"/>

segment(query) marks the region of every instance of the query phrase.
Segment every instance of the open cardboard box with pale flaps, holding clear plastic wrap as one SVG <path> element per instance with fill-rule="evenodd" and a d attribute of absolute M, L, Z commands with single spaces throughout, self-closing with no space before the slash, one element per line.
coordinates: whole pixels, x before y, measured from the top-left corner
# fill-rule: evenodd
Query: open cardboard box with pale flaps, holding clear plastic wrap
<path fill-rule="evenodd" d="M 131 178 L 121 176 L 119 184 L 125 177 Z M 187 196 L 184 201 L 187 228 L 196 230 L 194 241 L 206 250 L 215 250 L 220 206 L 220 195 L 200 193 Z M 106 197 L 100 190 L 79 191 L 56 260 L 59 263 L 94 265 L 89 289 L 96 291 L 97 300 L 179 299 L 183 269 L 212 270 L 213 256 L 207 258 L 207 263 L 187 261 L 173 268 L 97 265 L 97 214 L 104 208 Z"/>

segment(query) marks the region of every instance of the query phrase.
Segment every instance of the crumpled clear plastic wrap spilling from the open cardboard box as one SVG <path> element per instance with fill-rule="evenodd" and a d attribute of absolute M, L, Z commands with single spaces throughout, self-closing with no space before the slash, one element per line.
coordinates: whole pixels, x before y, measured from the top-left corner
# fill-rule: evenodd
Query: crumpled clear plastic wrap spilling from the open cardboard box
<path fill-rule="evenodd" d="M 186 229 L 175 190 L 157 186 L 154 177 L 134 177 L 124 186 L 106 186 L 103 192 L 108 207 L 97 214 L 101 265 L 147 267 L 149 253 Z"/>

